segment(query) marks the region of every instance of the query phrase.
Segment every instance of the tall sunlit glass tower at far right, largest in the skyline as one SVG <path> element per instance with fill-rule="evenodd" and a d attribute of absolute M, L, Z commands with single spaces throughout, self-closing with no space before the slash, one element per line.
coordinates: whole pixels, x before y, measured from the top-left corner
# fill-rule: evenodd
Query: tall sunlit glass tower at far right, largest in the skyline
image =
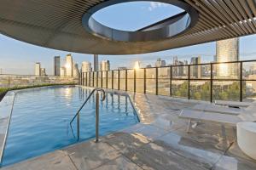
<path fill-rule="evenodd" d="M 216 42 L 216 61 L 228 62 L 239 60 L 239 38 Z M 238 73 L 237 64 L 218 64 L 218 77 L 232 77 Z"/>

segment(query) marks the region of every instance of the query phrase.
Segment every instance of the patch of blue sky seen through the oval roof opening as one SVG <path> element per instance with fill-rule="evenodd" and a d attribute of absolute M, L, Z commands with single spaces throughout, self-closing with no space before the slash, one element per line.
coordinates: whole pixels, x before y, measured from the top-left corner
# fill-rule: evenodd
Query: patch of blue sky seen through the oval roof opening
<path fill-rule="evenodd" d="M 96 11 L 91 17 L 115 30 L 137 31 L 183 11 L 168 3 L 139 1 L 114 4 Z"/>

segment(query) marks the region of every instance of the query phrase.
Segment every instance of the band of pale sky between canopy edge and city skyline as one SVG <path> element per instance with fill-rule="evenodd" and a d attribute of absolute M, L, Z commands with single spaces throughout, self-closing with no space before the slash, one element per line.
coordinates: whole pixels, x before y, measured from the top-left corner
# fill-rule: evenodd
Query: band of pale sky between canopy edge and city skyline
<path fill-rule="evenodd" d="M 241 37 L 240 38 L 240 59 L 245 60 L 245 59 L 255 59 L 254 56 L 256 56 L 256 50 L 251 47 L 253 43 L 249 43 L 249 45 L 245 45 L 248 41 L 255 41 L 256 43 L 256 35 L 253 36 L 247 36 L 247 37 Z M 10 55 L 10 57 L 3 57 L 0 56 L 0 69 L 2 70 L 3 74 L 24 74 L 24 75 L 32 75 L 33 70 L 34 70 L 34 64 L 38 61 L 40 61 L 41 65 L 46 69 L 46 73 L 48 75 L 53 75 L 54 73 L 54 68 L 52 66 L 52 58 L 54 56 L 66 56 L 69 54 L 69 52 L 65 51 L 59 51 L 59 50 L 54 50 L 54 49 L 49 49 L 49 48 L 41 48 L 38 46 L 34 46 L 31 44 L 28 44 L 26 42 L 18 42 L 12 38 L 9 37 L 3 37 L 0 35 L 0 39 L 6 39 L 9 42 L 14 42 L 17 43 L 18 45 L 15 45 L 15 48 L 33 48 L 34 50 L 32 51 L 23 51 L 20 52 L 20 54 L 31 54 L 35 56 L 35 58 L 25 58 L 25 59 L 20 59 L 20 55 L 15 55 L 12 53 L 12 51 L 7 51 L 6 48 L 3 48 L 5 43 L 3 41 L 0 41 L 0 48 L 3 49 L 3 53 L 0 55 Z M 205 49 L 205 50 L 204 50 Z M 204 44 L 199 44 L 195 46 L 189 46 L 189 47 L 184 47 L 184 48 L 176 48 L 176 49 L 171 49 L 167 51 L 161 51 L 161 52 L 156 52 L 156 53 L 151 53 L 151 54 L 137 54 L 137 55 L 99 55 L 99 60 L 109 60 L 112 64 L 112 69 L 118 69 L 119 67 L 127 67 L 127 68 L 133 68 L 134 63 L 138 60 L 141 63 L 142 67 L 146 67 L 147 65 L 154 65 L 156 59 L 161 58 L 166 60 L 166 65 L 170 65 L 172 63 L 173 57 L 178 57 L 180 60 L 189 60 L 190 58 L 194 56 L 201 55 L 201 62 L 211 62 L 214 59 L 214 55 L 216 55 L 216 42 L 208 42 Z M 15 50 L 14 50 L 15 51 Z M 39 52 L 42 51 L 43 54 L 49 54 L 49 55 L 44 55 L 41 56 Z M 193 54 L 189 54 L 188 52 L 194 52 Z M 203 52 L 208 52 L 209 54 L 203 53 Z M 38 52 L 38 56 L 34 53 Z M 197 53 L 195 53 L 197 52 Z M 212 54 L 210 54 L 212 53 Z M 87 60 L 89 62 L 93 62 L 93 55 L 92 54 L 76 54 L 76 53 L 71 53 L 73 54 L 74 60 L 79 63 L 79 68 L 81 67 L 81 64 L 84 60 Z M 19 57 L 17 57 L 19 56 Z M 41 57 L 40 57 L 41 56 Z M 19 61 L 19 62 L 15 62 Z M 125 62 L 124 62 L 125 61 Z M 127 62 L 126 62 L 127 61 Z M 126 65 L 124 65 L 124 63 Z"/>

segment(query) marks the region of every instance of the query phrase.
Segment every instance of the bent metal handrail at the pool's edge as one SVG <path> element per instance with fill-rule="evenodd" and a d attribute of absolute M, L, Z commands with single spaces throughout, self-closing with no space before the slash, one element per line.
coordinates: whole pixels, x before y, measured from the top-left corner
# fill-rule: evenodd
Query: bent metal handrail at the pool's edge
<path fill-rule="evenodd" d="M 72 127 L 72 122 L 74 121 L 75 118 L 77 118 L 77 136 L 78 136 L 78 140 L 80 138 L 80 111 L 84 108 L 84 105 L 88 102 L 88 100 L 90 99 L 90 97 L 92 96 L 92 94 L 94 94 L 96 92 L 96 142 L 99 141 L 99 100 L 100 100 L 100 95 L 99 92 L 102 92 L 102 101 L 105 99 L 106 97 L 106 93 L 102 88 L 94 88 L 89 96 L 87 97 L 87 99 L 85 99 L 84 104 L 81 105 L 81 107 L 79 108 L 79 111 L 77 111 L 77 113 L 75 114 L 75 116 L 73 116 L 73 119 L 71 120 L 71 122 L 69 123 L 70 126 Z"/>

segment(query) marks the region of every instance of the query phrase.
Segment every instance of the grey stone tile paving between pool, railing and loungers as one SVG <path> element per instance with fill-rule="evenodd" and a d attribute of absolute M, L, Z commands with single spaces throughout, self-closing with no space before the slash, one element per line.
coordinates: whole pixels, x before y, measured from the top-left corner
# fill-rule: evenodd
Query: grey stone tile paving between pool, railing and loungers
<path fill-rule="evenodd" d="M 256 161 L 236 144 L 236 129 L 199 122 L 186 133 L 181 109 L 199 101 L 130 94 L 141 122 L 101 138 L 3 169 L 253 170 Z M 203 103 L 203 102 L 201 102 Z"/>

